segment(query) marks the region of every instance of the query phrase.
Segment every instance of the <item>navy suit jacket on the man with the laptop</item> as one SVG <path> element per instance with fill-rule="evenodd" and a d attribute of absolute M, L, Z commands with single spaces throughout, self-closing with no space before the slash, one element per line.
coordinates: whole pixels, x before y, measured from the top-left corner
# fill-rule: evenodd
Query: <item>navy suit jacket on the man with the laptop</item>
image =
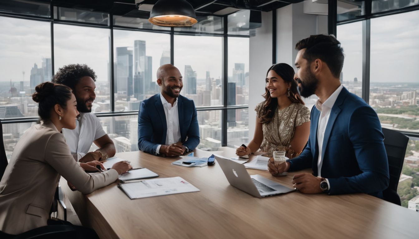
<path fill-rule="evenodd" d="M 318 175 L 317 126 L 320 111 L 311 110 L 310 138 L 300 156 L 290 160 L 290 171 L 312 167 Z M 377 113 L 358 96 L 341 90 L 323 138 L 321 176 L 329 194 L 368 193 L 382 198 L 388 188 L 388 160 Z"/>

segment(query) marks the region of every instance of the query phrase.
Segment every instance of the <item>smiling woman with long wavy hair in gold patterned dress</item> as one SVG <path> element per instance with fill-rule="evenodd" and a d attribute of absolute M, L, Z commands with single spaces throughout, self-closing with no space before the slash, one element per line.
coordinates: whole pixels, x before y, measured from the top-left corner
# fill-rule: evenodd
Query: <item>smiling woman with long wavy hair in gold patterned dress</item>
<path fill-rule="evenodd" d="M 256 152 L 285 151 L 298 156 L 310 134 L 310 110 L 297 91 L 294 69 L 285 63 L 269 67 L 265 78 L 265 100 L 256 105 L 256 128 L 248 146 L 238 147 L 240 157 Z M 270 156 L 273 157 L 273 156 Z"/>

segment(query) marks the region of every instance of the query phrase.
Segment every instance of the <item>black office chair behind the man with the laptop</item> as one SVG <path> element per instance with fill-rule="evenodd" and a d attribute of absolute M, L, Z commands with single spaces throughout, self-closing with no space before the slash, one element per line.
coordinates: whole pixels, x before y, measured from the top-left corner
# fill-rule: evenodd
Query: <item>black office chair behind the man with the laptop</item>
<path fill-rule="evenodd" d="M 383 128 L 383 134 L 388 158 L 388 171 L 390 173 L 390 184 L 383 191 L 383 199 L 401 206 L 400 197 L 397 194 L 397 186 L 409 137 L 388 128 Z"/>

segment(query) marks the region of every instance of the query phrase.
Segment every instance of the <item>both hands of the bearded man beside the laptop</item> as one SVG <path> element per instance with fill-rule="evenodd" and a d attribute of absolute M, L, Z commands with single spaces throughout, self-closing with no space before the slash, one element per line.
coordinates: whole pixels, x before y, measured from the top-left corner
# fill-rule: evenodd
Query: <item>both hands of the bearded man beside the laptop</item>
<path fill-rule="evenodd" d="M 268 171 L 276 176 L 280 173 L 287 172 L 290 169 L 290 163 L 285 162 L 275 165 L 274 158 L 268 160 Z M 301 193 L 322 193 L 320 189 L 321 178 L 313 176 L 309 173 L 300 173 L 292 177 L 292 186 L 299 190 Z"/>

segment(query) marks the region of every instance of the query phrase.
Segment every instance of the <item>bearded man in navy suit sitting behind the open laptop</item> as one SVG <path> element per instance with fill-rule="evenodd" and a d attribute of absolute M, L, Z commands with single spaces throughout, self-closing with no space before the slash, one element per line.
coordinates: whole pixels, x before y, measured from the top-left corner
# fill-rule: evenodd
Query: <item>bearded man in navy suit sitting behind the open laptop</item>
<path fill-rule="evenodd" d="M 388 188 L 388 160 L 377 113 L 341 85 L 344 54 L 334 36 L 313 35 L 297 43 L 294 79 L 303 97 L 316 94 L 310 137 L 303 152 L 277 166 L 272 175 L 311 168 L 294 175 L 301 193 L 367 193 L 383 198 Z"/>

